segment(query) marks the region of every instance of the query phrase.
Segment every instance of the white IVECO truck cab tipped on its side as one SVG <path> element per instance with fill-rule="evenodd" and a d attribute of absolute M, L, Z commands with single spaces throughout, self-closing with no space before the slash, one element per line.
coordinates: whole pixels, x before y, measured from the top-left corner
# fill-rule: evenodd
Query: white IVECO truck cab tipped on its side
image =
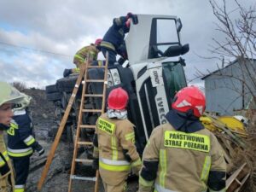
<path fill-rule="evenodd" d="M 125 38 L 129 67 L 108 70 L 108 91 L 121 86 L 128 91 L 128 118 L 135 125 L 141 153 L 155 126 L 166 123 L 177 90 L 187 85 L 179 55 L 189 51 L 181 44 L 181 20 L 176 16 L 137 15 Z"/>

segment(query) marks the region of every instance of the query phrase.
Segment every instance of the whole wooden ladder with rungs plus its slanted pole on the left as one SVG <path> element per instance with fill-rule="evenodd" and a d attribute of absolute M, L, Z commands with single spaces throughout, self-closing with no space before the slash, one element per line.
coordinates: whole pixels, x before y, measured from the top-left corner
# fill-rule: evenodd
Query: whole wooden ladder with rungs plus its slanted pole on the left
<path fill-rule="evenodd" d="M 104 68 L 104 79 L 88 79 L 87 72 L 88 72 L 88 69 L 90 69 L 90 68 Z M 84 81 L 82 82 L 83 77 L 84 77 Z M 72 180 L 73 179 L 95 181 L 96 182 L 95 192 L 98 190 L 98 178 L 99 178 L 98 171 L 96 171 L 96 177 L 93 177 L 93 178 L 91 178 L 91 177 L 77 177 L 77 176 L 74 175 L 74 171 L 75 171 L 76 162 L 85 162 L 85 161 L 88 162 L 88 160 L 77 159 L 79 146 L 81 146 L 81 145 L 91 146 L 92 145 L 92 143 L 81 142 L 79 140 L 80 130 L 83 129 L 83 128 L 95 129 L 95 127 L 96 127 L 96 125 L 83 125 L 82 124 L 82 122 L 83 122 L 82 114 L 83 113 L 91 113 L 91 112 L 104 113 L 105 93 L 106 93 L 106 86 L 108 84 L 107 78 L 108 78 L 108 53 L 107 53 L 107 56 L 106 56 L 105 66 L 90 66 L 89 63 L 87 62 L 85 67 L 82 68 L 82 70 L 80 71 L 79 78 L 77 79 L 76 84 L 73 88 L 72 96 L 69 99 L 69 102 L 67 104 L 67 108 L 66 108 L 65 113 L 64 113 L 64 115 L 61 119 L 61 124 L 60 124 L 59 129 L 57 131 L 57 134 L 55 136 L 55 141 L 52 144 L 52 147 L 50 148 L 49 155 L 47 157 L 47 160 L 46 160 L 46 163 L 45 163 L 45 166 L 44 166 L 44 170 L 43 170 L 41 178 L 38 182 L 38 190 L 39 191 L 42 189 L 43 184 L 44 184 L 44 180 L 47 176 L 47 173 L 49 172 L 49 166 L 50 166 L 50 164 L 51 164 L 51 162 L 54 158 L 55 150 L 56 150 L 58 144 L 60 143 L 62 132 L 64 131 L 65 125 L 67 123 L 67 118 L 68 118 L 69 113 L 72 109 L 73 102 L 74 102 L 75 97 L 78 93 L 79 85 L 81 83 L 83 84 L 83 91 L 82 91 L 81 103 L 80 103 L 80 109 L 79 109 L 79 122 L 78 122 L 77 133 L 76 133 L 76 137 L 75 137 L 75 141 L 74 141 L 73 161 L 72 161 L 71 176 L 70 176 L 70 180 L 69 180 L 68 191 L 71 191 L 71 189 L 72 189 Z M 102 94 L 85 94 L 87 83 L 102 83 L 103 84 Z M 86 109 L 86 108 L 84 108 L 84 99 L 85 99 L 85 97 L 102 97 L 102 109 Z"/>

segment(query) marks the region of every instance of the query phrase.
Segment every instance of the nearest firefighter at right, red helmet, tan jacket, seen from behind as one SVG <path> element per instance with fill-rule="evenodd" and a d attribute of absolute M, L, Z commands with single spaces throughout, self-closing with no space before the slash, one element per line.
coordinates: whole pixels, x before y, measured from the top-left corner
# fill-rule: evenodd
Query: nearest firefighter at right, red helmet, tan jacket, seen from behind
<path fill-rule="evenodd" d="M 179 90 L 143 151 L 139 191 L 225 191 L 226 163 L 217 138 L 201 125 L 206 99 L 195 86 Z"/>

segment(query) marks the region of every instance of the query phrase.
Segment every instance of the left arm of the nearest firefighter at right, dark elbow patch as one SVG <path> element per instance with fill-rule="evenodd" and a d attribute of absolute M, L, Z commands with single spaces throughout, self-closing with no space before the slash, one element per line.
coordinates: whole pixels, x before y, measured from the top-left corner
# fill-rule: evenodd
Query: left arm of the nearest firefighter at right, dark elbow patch
<path fill-rule="evenodd" d="M 139 176 L 140 192 L 153 191 L 159 164 L 160 138 L 160 128 L 155 128 L 143 151 L 143 168 Z"/>

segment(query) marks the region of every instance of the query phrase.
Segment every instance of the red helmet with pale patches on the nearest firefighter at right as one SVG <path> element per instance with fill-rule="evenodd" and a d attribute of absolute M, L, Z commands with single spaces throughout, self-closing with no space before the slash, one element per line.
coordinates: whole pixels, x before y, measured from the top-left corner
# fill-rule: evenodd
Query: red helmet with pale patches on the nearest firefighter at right
<path fill-rule="evenodd" d="M 185 87 L 174 96 L 172 108 L 181 113 L 192 110 L 195 117 L 200 117 L 206 109 L 206 97 L 195 86 Z"/>

